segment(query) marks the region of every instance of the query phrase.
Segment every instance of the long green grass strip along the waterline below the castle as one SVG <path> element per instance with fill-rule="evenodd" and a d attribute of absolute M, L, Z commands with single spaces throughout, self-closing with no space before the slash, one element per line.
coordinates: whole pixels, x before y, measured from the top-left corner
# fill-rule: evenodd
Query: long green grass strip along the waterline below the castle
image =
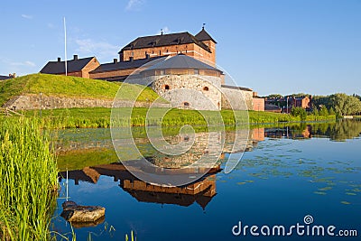
<path fill-rule="evenodd" d="M 117 108 L 114 109 L 113 126 L 144 126 L 146 124 L 146 115 L 148 108 Z M 40 125 L 49 128 L 97 128 L 110 127 L 111 108 L 69 108 L 42 110 L 42 118 L 39 118 Z M 220 119 L 216 111 L 196 111 L 171 109 L 162 118 L 164 109 L 154 108 L 153 114 L 147 119 L 147 125 L 245 125 L 249 116 L 250 125 L 276 124 L 284 122 L 300 122 L 299 116 L 287 114 L 256 112 L 256 111 L 231 111 L 222 110 Z M 39 110 L 25 111 L 25 116 L 40 116 Z M 130 117 L 131 116 L 131 117 Z M 335 120 L 335 116 L 307 116 L 306 121 L 324 121 Z"/>

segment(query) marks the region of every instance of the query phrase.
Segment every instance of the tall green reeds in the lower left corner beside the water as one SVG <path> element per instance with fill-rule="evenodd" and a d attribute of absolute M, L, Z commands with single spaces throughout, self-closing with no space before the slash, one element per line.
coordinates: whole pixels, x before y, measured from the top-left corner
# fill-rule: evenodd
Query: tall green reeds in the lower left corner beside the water
<path fill-rule="evenodd" d="M 48 240 L 58 170 L 37 121 L 0 119 L 0 239 Z"/>

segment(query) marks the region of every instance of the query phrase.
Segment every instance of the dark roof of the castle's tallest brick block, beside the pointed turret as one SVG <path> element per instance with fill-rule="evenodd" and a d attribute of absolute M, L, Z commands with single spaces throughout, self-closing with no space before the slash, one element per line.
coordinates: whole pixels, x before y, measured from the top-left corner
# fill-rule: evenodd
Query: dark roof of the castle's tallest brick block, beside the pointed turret
<path fill-rule="evenodd" d="M 178 45 L 186 43 L 196 43 L 204 50 L 211 52 L 206 44 L 200 42 L 195 36 L 190 34 L 190 32 L 177 32 L 171 34 L 161 34 L 153 36 L 145 36 L 136 38 L 134 41 L 129 42 L 121 51 L 127 50 L 136 50 L 143 48 L 152 48 L 160 46 L 169 46 L 169 45 Z"/>

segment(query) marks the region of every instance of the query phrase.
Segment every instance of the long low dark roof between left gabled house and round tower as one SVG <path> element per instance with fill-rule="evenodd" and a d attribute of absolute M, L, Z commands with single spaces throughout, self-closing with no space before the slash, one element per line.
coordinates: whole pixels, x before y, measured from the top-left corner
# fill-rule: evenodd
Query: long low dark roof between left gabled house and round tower
<path fill-rule="evenodd" d="M 101 64 L 97 67 L 96 70 L 92 70 L 89 73 L 98 73 L 98 72 L 105 72 L 105 71 L 112 71 L 112 70 L 127 70 L 127 69 L 136 69 L 144 64 L 153 61 L 153 60 L 160 60 L 165 59 L 164 56 L 158 56 L 154 58 L 149 59 L 139 59 L 139 60 L 128 60 L 128 61 L 122 61 L 122 62 L 111 62 L 111 63 L 105 63 Z"/>

